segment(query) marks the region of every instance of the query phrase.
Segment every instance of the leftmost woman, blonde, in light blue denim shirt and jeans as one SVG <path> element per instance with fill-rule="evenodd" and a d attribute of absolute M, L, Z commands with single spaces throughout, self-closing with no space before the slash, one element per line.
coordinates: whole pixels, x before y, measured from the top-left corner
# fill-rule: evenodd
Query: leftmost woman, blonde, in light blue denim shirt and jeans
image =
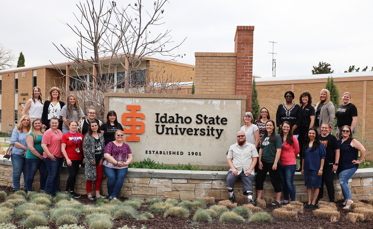
<path fill-rule="evenodd" d="M 12 147 L 12 167 L 13 167 L 13 191 L 20 189 L 19 181 L 21 180 L 21 174 L 23 173 L 23 183 L 25 184 L 25 190 L 28 190 L 26 185 L 27 177 L 27 163 L 25 159 L 26 151 L 28 150 L 26 135 L 31 129 L 30 117 L 23 115 L 16 128 L 13 129 L 12 138 L 10 138 L 10 144 Z"/>

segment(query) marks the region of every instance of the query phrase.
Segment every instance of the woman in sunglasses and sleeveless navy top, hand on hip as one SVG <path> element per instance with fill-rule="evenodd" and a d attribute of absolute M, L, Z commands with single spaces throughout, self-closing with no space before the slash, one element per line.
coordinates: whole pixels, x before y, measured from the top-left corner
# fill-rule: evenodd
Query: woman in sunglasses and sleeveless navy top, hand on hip
<path fill-rule="evenodd" d="M 337 168 L 337 175 L 339 184 L 341 185 L 344 204 L 343 209 L 349 209 L 350 205 L 354 203 L 351 200 L 351 192 L 348 187 L 348 180 L 356 172 L 359 164 L 363 162 L 365 157 L 364 146 L 352 137 L 351 127 L 348 125 L 342 126 L 342 139 L 338 140 L 339 144 L 339 163 Z M 360 151 L 360 159 L 358 158 Z"/>

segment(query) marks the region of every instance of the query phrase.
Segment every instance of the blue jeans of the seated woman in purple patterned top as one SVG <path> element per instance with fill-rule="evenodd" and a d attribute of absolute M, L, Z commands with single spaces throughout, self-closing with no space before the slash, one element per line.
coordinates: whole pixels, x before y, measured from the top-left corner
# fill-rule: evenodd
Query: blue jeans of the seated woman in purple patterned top
<path fill-rule="evenodd" d="M 124 169 L 113 169 L 110 167 L 104 167 L 104 172 L 107 177 L 107 193 L 109 197 L 117 197 L 120 193 L 120 189 L 123 187 L 124 177 L 127 174 L 127 168 Z"/>

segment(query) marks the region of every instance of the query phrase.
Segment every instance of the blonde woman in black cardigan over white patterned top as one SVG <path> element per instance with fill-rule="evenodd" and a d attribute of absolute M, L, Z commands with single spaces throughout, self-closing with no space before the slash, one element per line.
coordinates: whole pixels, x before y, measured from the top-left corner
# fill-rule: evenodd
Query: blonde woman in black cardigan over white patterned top
<path fill-rule="evenodd" d="M 43 127 L 47 129 L 50 128 L 50 119 L 52 117 L 57 117 L 59 119 L 58 129 L 62 131 L 62 120 L 61 120 L 61 109 L 65 106 L 65 103 L 61 101 L 61 90 L 60 88 L 53 87 L 49 90 L 48 100 L 45 101 L 43 106 L 43 114 L 41 115 L 41 122 Z"/>

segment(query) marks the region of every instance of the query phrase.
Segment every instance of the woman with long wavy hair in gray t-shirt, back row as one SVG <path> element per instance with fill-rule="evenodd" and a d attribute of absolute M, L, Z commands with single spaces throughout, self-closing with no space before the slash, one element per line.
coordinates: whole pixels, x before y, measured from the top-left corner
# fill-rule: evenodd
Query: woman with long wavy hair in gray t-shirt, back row
<path fill-rule="evenodd" d="M 76 97 L 76 95 L 69 95 L 67 105 L 62 107 L 60 115 L 63 120 L 62 134 L 66 134 L 69 132 L 69 121 L 77 120 L 79 122 L 83 119 L 84 113 L 79 106 L 78 97 Z"/>

